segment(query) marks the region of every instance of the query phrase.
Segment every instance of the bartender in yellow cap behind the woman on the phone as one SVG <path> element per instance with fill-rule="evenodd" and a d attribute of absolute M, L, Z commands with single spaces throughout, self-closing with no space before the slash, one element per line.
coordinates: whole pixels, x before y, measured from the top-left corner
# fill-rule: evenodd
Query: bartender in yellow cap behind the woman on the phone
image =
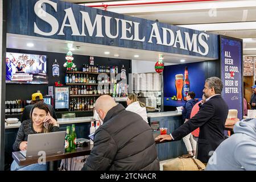
<path fill-rule="evenodd" d="M 39 102 L 39 101 L 42 101 L 42 102 L 44 101 L 43 95 L 42 95 L 42 93 L 40 93 L 40 91 L 32 94 L 32 104 L 28 105 L 24 108 L 21 122 L 23 122 L 27 119 L 31 119 L 30 111 L 31 111 L 32 107 L 36 104 L 36 102 Z M 56 116 L 55 110 L 53 109 L 52 105 L 47 104 L 47 106 L 48 106 L 49 110 L 51 111 L 51 116 L 57 120 L 57 116 Z"/>

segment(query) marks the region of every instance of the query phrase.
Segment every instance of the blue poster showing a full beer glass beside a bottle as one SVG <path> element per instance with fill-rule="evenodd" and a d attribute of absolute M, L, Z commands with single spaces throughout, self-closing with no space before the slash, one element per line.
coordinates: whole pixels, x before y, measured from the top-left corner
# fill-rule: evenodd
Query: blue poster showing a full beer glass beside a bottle
<path fill-rule="evenodd" d="M 177 64 L 164 67 L 164 106 L 183 106 L 185 95 L 195 92 L 200 101 L 205 83 L 204 62 Z"/>

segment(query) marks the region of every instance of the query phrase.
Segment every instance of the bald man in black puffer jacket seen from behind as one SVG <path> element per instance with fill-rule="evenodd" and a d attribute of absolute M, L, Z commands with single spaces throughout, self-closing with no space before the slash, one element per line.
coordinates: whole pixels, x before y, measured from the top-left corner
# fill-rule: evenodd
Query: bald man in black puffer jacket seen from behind
<path fill-rule="evenodd" d="M 152 130 L 141 116 L 108 95 L 97 99 L 95 109 L 103 125 L 82 170 L 159 170 Z"/>

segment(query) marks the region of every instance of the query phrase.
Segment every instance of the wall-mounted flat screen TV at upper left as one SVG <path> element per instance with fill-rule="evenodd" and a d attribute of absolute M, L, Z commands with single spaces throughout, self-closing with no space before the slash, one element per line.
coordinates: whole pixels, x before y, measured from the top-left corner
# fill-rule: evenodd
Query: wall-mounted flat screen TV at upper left
<path fill-rule="evenodd" d="M 48 84 L 47 56 L 6 53 L 7 84 Z"/>

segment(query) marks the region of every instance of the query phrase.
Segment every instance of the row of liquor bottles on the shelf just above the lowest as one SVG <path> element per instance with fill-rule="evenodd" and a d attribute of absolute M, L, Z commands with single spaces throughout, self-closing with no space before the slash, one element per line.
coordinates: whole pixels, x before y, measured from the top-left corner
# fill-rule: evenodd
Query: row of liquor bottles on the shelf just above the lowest
<path fill-rule="evenodd" d="M 71 86 L 69 94 L 72 95 L 89 95 L 89 94 L 108 94 L 113 93 L 113 89 L 104 88 L 98 89 L 98 86 Z"/>

